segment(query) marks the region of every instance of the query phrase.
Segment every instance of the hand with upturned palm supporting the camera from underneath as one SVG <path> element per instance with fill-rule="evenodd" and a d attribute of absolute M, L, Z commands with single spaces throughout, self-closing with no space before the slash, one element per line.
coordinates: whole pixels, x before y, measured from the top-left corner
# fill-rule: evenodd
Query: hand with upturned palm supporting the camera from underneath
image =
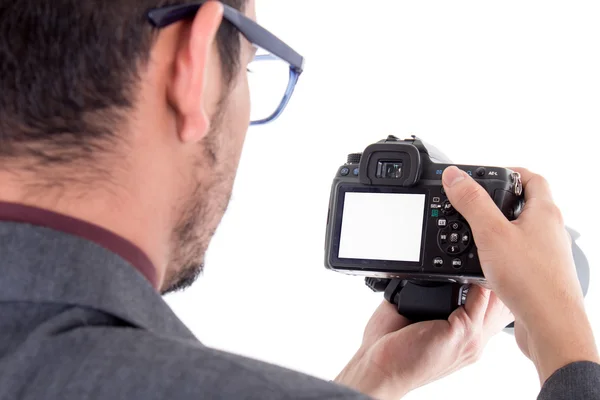
<path fill-rule="evenodd" d="M 384 301 L 367 324 L 361 348 L 335 381 L 371 397 L 399 399 L 476 361 L 488 340 L 513 320 L 495 294 L 478 286 L 448 321 L 411 325 Z"/>

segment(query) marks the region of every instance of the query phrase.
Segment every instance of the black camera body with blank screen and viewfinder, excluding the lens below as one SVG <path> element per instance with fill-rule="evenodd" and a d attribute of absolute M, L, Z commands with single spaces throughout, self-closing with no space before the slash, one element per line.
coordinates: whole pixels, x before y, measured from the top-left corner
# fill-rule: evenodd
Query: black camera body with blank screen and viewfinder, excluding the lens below
<path fill-rule="evenodd" d="M 456 165 L 419 138 L 389 136 L 351 154 L 331 188 L 325 266 L 351 275 L 486 285 L 473 234 L 445 195 L 442 174 Z M 518 173 L 456 165 L 509 219 L 524 205 Z"/>

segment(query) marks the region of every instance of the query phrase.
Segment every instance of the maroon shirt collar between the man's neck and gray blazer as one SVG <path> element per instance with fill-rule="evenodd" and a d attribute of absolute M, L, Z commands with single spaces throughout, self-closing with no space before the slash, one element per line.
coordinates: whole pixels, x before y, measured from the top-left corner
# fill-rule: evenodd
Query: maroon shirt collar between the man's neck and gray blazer
<path fill-rule="evenodd" d="M 148 256 L 133 243 L 98 225 L 37 207 L 1 201 L 0 221 L 44 226 L 95 242 L 128 261 L 150 281 L 153 287 L 158 287 L 156 269 Z"/>

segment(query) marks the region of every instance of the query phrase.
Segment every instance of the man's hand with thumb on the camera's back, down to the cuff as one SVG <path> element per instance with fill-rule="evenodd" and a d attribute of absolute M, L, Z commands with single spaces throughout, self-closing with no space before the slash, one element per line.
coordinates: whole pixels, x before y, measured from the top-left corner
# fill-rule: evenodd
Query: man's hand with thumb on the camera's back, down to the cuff
<path fill-rule="evenodd" d="M 471 226 L 485 277 L 515 315 L 517 343 L 543 384 L 571 362 L 600 359 L 571 240 L 548 183 L 528 170 L 514 170 L 523 180 L 525 207 L 512 222 L 458 168 L 447 168 L 443 182 L 450 202 Z"/>

